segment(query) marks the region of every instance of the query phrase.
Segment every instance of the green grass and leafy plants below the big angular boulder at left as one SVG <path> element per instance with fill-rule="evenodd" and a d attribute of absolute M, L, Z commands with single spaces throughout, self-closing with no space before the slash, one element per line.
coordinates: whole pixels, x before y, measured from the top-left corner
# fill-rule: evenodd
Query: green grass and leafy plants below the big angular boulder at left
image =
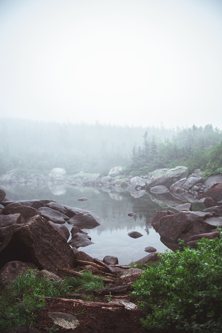
<path fill-rule="evenodd" d="M 39 275 L 38 270 L 29 270 L 19 275 L 9 286 L 2 289 L 0 295 L 0 333 L 8 327 L 32 327 L 39 311 L 44 309 L 46 297 L 66 297 L 76 291 L 90 293 L 102 289 L 102 278 L 96 278 L 90 270 L 81 277 L 68 276 L 59 281 Z M 92 300 L 91 295 L 85 295 Z"/>

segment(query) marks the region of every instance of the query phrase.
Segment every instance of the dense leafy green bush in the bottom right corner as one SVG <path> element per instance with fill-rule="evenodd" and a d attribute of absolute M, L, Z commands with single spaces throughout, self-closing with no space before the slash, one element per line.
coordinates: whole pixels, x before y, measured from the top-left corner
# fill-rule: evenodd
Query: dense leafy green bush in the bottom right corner
<path fill-rule="evenodd" d="M 198 241 L 197 249 L 159 256 L 134 284 L 147 329 L 170 332 L 221 332 L 222 241 Z"/>

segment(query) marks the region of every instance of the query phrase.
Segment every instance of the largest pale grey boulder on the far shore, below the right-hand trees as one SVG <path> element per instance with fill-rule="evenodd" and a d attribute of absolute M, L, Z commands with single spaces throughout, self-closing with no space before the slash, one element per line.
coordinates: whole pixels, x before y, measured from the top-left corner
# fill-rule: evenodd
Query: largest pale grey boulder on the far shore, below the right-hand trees
<path fill-rule="evenodd" d="M 170 188 L 172 184 L 181 178 L 187 177 L 188 168 L 186 166 L 177 166 L 174 169 L 157 169 L 150 172 L 151 178 L 147 181 L 147 187 L 164 185 Z"/>

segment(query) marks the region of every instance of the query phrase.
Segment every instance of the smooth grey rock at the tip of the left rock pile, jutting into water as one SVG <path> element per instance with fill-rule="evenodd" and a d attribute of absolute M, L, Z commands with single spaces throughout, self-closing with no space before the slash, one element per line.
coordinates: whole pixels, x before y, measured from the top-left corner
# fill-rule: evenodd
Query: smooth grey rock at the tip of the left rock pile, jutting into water
<path fill-rule="evenodd" d="M 78 213 L 68 221 L 69 224 L 76 225 L 81 229 L 93 229 L 96 226 L 103 223 L 103 220 L 96 214 L 85 211 L 84 213 Z"/>

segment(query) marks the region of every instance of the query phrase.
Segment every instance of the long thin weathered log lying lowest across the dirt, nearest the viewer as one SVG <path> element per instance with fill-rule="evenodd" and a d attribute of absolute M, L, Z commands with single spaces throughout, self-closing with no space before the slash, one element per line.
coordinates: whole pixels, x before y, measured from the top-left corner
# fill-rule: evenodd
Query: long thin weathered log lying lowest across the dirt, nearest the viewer
<path fill-rule="evenodd" d="M 124 304 L 120 303 L 101 303 L 101 302 L 85 302 L 80 299 L 67 299 L 67 298 L 54 298 L 54 297 L 43 297 L 47 301 L 62 301 L 67 303 L 73 303 L 73 306 L 81 304 L 83 306 L 89 306 L 93 308 L 101 308 L 107 310 L 122 310 L 125 308 Z"/>

